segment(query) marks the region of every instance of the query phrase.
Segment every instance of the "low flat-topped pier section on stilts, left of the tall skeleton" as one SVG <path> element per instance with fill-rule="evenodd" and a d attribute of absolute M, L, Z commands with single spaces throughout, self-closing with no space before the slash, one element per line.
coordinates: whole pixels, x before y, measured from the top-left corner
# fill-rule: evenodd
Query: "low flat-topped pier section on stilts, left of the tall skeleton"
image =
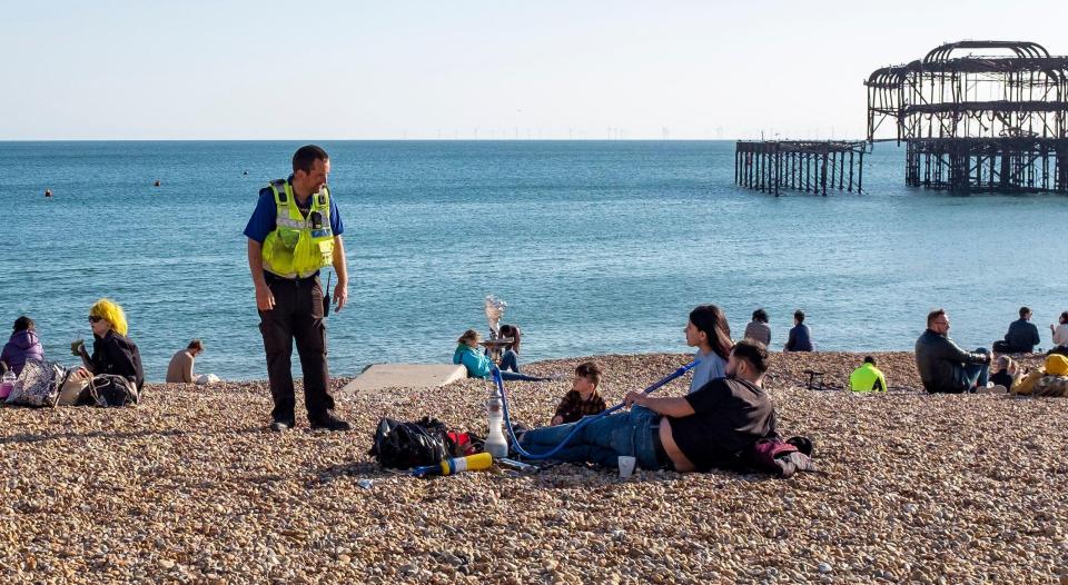
<path fill-rule="evenodd" d="M 861 192 L 867 142 L 740 140 L 734 147 L 734 182 L 779 196 L 782 190 L 827 195 Z"/>

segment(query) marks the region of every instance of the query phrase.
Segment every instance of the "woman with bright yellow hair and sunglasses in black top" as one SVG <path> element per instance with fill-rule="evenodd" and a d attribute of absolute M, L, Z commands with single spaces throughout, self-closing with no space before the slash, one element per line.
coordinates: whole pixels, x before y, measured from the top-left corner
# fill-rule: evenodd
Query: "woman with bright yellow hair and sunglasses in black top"
<path fill-rule="evenodd" d="M 89 327 L 92 328 L 92 356 L 86 351 L 85 343 L 77 347 L 86 367 L 93 375 L 122 376 L 141 391 L 145 386 L 141 353 L 137 349 L 137 344 L 126 336 L 129 326 L 122 307 L 106 298 L 96 301 L 89 308 Z"/>

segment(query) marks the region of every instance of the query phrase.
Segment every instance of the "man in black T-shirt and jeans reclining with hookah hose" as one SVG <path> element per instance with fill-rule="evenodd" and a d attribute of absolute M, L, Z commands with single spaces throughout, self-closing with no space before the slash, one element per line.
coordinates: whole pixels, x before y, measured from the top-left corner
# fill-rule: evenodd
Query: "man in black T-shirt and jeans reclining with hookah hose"
<path fill-rule="evenodd" d="M 681 397 L 629 393 L 624 398 L 632 406 L 629 413 L 585 425 L 553 458 L 612 467 L 620 456 L 631 456 L 645 469 L 731 468 L 756 440 L 777 436 L 775 409 L 761 389 L 767 370 L 764 346 L 739 341 L 728 359 L 726 378 Z M 545 453 L 576 424 L 527 430 L 520 443 L 533 453 Z"/>

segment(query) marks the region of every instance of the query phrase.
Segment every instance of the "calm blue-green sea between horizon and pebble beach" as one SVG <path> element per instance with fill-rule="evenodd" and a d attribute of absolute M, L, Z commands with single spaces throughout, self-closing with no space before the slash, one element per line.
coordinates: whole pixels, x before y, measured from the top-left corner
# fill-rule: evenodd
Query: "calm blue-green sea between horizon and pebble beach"
<path fill-rule="evenodd" d="M 265 379 L 243 230 L 303 143 L 0 142 L 0 328 L 28 315 L 73 365 L 108 297 L 149 380 L 192 338 L 198 373 Z M 864 158 L 863 194 L 778 198 L 734 185 L 731 141 L 318 143 L 350 279 L 327 319 L 335 376 L 448 363 L 465 329 L 488 330 L 487 295 L 523 361 L 689 351 L 701 304 L 735 337 L 764 308 L 772 349 L 802 309 L 818 350 L 850 351 L 910 350 L 936 307 L 960 345 L 989 347 L 1021 305 L 1049 347 L 1068 310 L 1065 197 L 910 188 L 893 143 Z"/>

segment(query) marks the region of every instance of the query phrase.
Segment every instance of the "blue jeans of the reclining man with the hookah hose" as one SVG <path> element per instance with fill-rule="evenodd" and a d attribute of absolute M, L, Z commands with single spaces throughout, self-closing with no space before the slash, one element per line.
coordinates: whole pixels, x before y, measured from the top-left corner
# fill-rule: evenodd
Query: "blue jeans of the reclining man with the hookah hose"
<path fill-rule="evenodd" d="M 659 469 L 661 465 L 656 462 L 652 433 L 652 423 L 657 416 L 649 408 L 634 406 L 629 413 L 602 417 L 584 426 L 553 458 L 615 467 L 619 465 L 620 455 L 629 455 L 637 458 L 639 467 Z M 560 445 L 577 424 L 527 430 L 520 444 L 535 455 L 548 453 Z"/>

